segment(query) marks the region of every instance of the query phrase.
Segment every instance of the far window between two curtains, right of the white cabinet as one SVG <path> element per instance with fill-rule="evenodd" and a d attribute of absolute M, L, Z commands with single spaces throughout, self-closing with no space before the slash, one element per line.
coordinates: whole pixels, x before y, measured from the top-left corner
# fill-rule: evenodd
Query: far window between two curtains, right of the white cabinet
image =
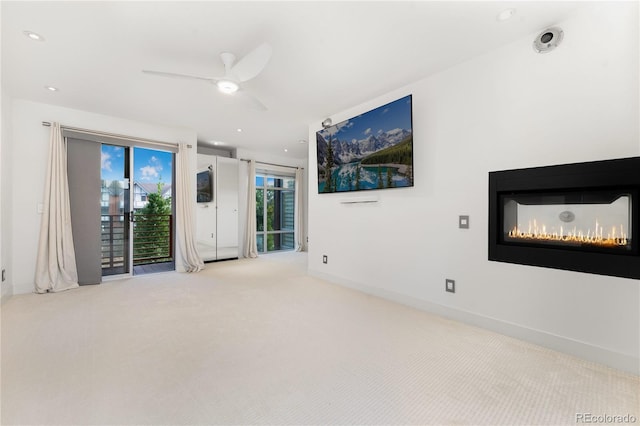
<path fill-rule="evenodd" d="M 293 250 L 295 178 L 256 173 L 258 252 Z"/>

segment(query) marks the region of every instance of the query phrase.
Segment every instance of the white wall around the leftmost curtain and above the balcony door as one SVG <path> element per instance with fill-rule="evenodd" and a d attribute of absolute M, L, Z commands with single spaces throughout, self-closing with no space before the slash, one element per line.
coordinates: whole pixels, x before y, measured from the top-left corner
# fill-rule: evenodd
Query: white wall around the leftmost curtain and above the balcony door
<path fill-rule="evenodd" d="M 50 128 L 43 121 L 57 121 L 63 126 L 110 132 L 163 142 L 186 142 L 193 145 L 190 162 L 195 175 L 196 133 L 188 129 L 124 120 L 57 106 L 14 99 L 12 103 L 12 137 L 10 174 L 12 194 L 3 213 L 10 214 L 12 253 L 10 274 L 14 293 L 33 291 L 34 273 L 40 230 L 37 205 L 42 202 L 47 168 Z M 4 121 L 4 120 L 3 120 Z M 4 152 L 3 152 L 4 154 Z M 3 155 L 3 162 L 4 162 Z M 4 196 L 4 191 L 3 191 Z M 176 269 L 182 270 L 179 256 Z"/>

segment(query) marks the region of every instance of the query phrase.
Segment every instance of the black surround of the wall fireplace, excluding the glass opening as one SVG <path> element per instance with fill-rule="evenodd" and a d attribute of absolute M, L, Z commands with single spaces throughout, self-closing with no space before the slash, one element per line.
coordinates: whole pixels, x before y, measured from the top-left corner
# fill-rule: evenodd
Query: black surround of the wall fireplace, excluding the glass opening
<path fill-rule="evenodd" d="M 631 190 L 631 254 L 502 242 L 500 195 L 558 190 Z M 640 157 L 489 172 L 489 260 L 640 279 Z"/>

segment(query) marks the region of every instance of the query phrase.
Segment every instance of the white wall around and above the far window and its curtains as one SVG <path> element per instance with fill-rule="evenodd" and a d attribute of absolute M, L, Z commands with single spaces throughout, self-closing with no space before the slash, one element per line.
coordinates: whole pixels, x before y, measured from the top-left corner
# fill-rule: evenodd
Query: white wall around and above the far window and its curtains
<path fill-rule="evenodd" d="M 315 137 L 315 136 L 314 136 Z M 314 145 L 315 146 L 315 145 Z M 239 148 L 237 150 L 237 158 L 242 160 L 256 160 L 256 167 L 257 168 L 261 168 L 261 165 L 259 164 L 260 162 L 264 162 L 264 163 L 272 163 L 272 164 L 279 164 L 282 166 L 290 166 L 290 167 L 303 167 L 304 168 L 304 173 L 303 173 L 303 180 L 304 183 L 302 185 L 302 188 L 296 188 L 296 191 L 303 191 L 302 197 L 303 197 L 303 203 L 305 206 L 308 205 L 308 182 L 309 182 L 309 167 L 308 167 L 308 161 L 307 159 L 296 159 L 296 158 L 289 158 L 289 157 L 284 157 L 284 156 L 279 156 L 279 155 L 273 155 L 273 154 L 267 154 L 264 152 L 257 152 L 257 151 L 250 151 L 247 149 L 242 149 Z M 274 168 L 272 166 L 264 166 L 264 167 L 271 167 Z M 277 168 L 276 168 L 277 169 Z M 292 172 L 292 169 L 287 169 L 287 171 Z M 247 190 L 248 190 L 248 186 L 249 186 L 249 180 L 248 180 L 248 174 L 249 174 L 249 163 L 247 163 L 246 161 L 240 161 L 240 190 L 238 191 L 238 205 L 239 205 L 239 209 L 238 209 L 238 236 L 239 236 L 239 241 L 240 241 L 240 248 L 239 248 L 239 253 L 240 256 L 242 256 L 242 253 L 244 253 L 244 239 L 245 239 L 245 235 L 246 235 L 246 230 L 247 230 Z M 313 169 L 313 173 L 315 173 L 315 169 Z M 307 209 L 308 210 L 308 209 Z M 308 211 L 305 211 L 303 213 L 303 228 L 304 228 L 304 235 L 308 235 L 307 234 L 307 223 L 308 223 Z"/>

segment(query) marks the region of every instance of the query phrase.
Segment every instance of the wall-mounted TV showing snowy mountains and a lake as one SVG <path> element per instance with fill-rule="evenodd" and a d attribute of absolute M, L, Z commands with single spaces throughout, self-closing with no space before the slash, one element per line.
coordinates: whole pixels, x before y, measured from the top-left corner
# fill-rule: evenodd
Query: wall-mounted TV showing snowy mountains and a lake
<path fill-rule="evenodd" d="M 411 95 L 316 133 L 318 192 L 413 186 Z"/>

